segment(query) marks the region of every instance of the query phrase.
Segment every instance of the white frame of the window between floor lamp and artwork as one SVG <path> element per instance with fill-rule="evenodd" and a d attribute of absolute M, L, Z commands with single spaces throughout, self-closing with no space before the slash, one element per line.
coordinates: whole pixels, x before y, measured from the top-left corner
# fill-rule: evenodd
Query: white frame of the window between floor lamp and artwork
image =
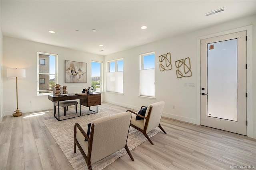
<path fill-rule="evenodd" d="M 52 73 L 40 73 L 39 72 L 39 65 L 40 64 L 40 59 L 39 59 L 39 55 L 54 55 L 55 56 L 55 74 Z M 45 65 L 45 64 L 44 64 Z M 58 54 L 52 54 L 52 53 L 44 53 L 44 52 L 37 52 L 37 96 L 45 96 L 45 95 L 49 95 L 49 94 L 53 94 L 52 90 L 48 90 L 51 91 L 50 93 L 40 93 L 42 92 L 42 90 L 39 90 L 39 84 L 40 84 L 40 80 L 39 80 L 39 75 L 49 75 L 49 76 L 55 76 L 55 84 L 58 84 Z"/>

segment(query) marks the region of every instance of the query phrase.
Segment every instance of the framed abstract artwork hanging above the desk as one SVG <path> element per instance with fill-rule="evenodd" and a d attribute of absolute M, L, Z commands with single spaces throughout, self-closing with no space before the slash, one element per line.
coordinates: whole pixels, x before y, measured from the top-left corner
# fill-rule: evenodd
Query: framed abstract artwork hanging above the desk
<path fill-rule="evenodd" d="M 65 83 L 86 83 L 87 63 L 65 60 Z"/>

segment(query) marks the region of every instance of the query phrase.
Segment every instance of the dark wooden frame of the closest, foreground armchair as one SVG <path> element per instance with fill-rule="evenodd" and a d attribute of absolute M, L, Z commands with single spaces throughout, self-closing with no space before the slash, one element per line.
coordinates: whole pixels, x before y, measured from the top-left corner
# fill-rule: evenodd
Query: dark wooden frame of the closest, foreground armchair
<path fill-rule="evenodd" d="M 82 149 L 81 145 L 78 143 L 78 141 L 76 139 L 76 127 L 81 131 L 82 135 L 84 135 L 85 139 L 88 141 L 88 156 L 86 156 L 86 154 L 84 153 L 84 150 Z M 88 135 L 82 129 L 82 127 L 78 123 L 75 123 L 75 126 L 74 126 L 74 153 L 76 153 L 76 145 L 77 145 L 86 161 L 86 164 L 87 164 L 89 170 L 92 170 L 91 155 L 92 155 L 93 135 L 94 135 L 94 124 L 91 125 L 90 138 L 89 138 Z M 127 134 L 126 141 L 127 141 L 127 139 L 128 139 L 128 134 Z M 128 153 L 128 155 L 130 156 L 130 158 L 132 159 L 132 161 L 134 161 L 134 158 L 132 157 L 132 154 L 131 154 L 127 144 L 125 145 L 124 148 L 125 148 L 126 152 Z"/>

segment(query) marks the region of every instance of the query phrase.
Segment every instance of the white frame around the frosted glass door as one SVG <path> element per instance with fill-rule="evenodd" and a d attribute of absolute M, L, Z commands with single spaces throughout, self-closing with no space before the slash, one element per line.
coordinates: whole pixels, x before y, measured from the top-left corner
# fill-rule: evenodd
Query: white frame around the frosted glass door
<path fill-rule="evenodd" d="M 206 35 L 206 36 L 202 36 L 202 37 L 198 37 L 197 38 L 197 55 L 196 55 L 196 73 L 197 73 L 197 77 L 196 77 L 196 124 L 200 125 L 200 72 L 201 72 L 201 66 L 200 66 L 200 41 L 201 39 L 206 39 L 206 38 L 211 38 L 211 37 L 217 37 L 217 36 L 221 36 L 221 35 L 226 35 L 226 34 L 230 34 L 230 33 L 236 33 L 236 32 L 240 32 L 240 31 L 247 31 L 247 46 L 246 46 L 246 51 L 247 51 L 247 59 L 246 59 L 246 63 L 247 63 L 247 80 L 246 80 L 246 88 L 247 88 L 247 93 L 248 93 L 248 97 L 247 97 L 247 136 L 253 138 L 253 104 L 252 104 L 252 25 L 246 26 L 246 27 L 240 27 L 240 28 L 236 28 L 236 29 L 232 29 L 232 30 L 228 30 L 228 31 L 224 31 L 224 32 L 220 32 L 220 33 L 215 33 L 215 34 L 211 34 L 211 35 Z"/>

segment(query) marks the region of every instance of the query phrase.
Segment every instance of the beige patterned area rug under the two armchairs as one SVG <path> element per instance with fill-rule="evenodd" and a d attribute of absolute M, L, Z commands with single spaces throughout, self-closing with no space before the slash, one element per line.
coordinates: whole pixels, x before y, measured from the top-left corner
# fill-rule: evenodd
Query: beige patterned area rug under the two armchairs
<path fill-rule="evenodd" d="M 67 119 L 63 121 L 57 121 L 56 119 L 48 119 L 44 121 L 45 126 L 51 133 L 52 137 L 59 145 L 60 149 L 63 151 L 65 156 L 68 158 L 70 164 L 75 170 L 88 170 L 84 157 L 82 156 L 78 147 L 76 148 L 76 153 L 74 154 L 74 124 L 77 122 L 81 127 L 86 127 L 88 123 L 93 120 L 98 119 L 103 116 L 111 115 L 114 113 L 107 113 L 102 109 L 98 110 L 98 113 L 88 114 L 81 117 L 75 117 L 72 119 Z M 153 129 L 148 133 L 149 137 L 152 137 L 160 132 L 160 128 Z M 127 146 L 130 150 L 134 149 L 138 145 L 146 141 L 146 137 L 138 130 L 130 127 L 129 135 L 127 139 Z M 106 158 L 99 160 L 92 164 L 94 170 L 102 170 L 117 158 L 126 154 L 126 150 L 119 150 Z"/>

